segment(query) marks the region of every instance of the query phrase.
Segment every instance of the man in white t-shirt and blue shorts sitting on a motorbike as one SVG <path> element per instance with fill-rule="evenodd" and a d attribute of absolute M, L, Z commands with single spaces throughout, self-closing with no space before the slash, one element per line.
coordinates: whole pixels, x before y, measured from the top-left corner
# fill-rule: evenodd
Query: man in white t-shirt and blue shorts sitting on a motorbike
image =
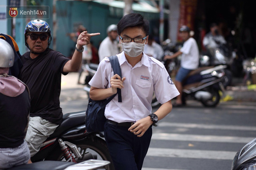
<path fill-rule="evenodd" d="M 190 37 L 190 29 L 187 26 L 180 27 L 180 36 L 185 41 L 182 48 L 172 56 L 164 56 L 164 59 L 172 59 L 182 54 L 180 61 L 180 69 L 175 78 L 175 86 L 180 95 L 177 96 L 174 106 L 182 105 L 182 81 L 187 77 L 190 71 L 195 70 L 199 66 L 199 49 L 194 38 Z"/>

